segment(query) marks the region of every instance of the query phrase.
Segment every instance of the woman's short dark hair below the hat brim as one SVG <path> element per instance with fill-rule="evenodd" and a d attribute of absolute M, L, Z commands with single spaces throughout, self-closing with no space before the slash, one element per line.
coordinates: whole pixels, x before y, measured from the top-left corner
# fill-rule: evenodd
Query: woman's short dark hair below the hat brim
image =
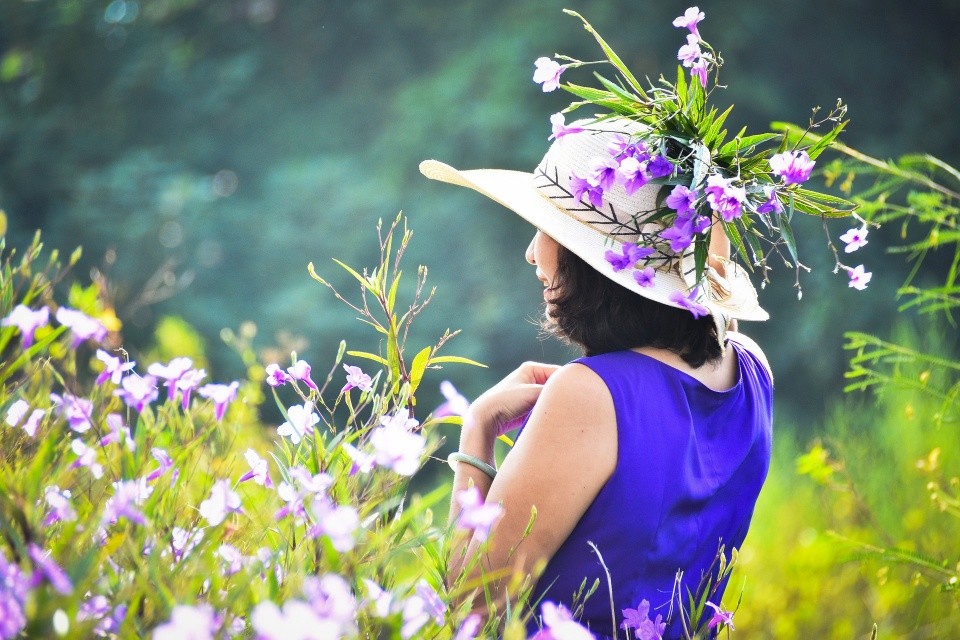
<path fill-rule="evenodd" d="M 543 328 L 588 356 L 638 347 L 673 351 L 691 367 L 719 360 L 723 351 L 710 316 L 694 318 L 649 300 L 604 277 L 560 245 L 551 283 L 554 298 Z"/>

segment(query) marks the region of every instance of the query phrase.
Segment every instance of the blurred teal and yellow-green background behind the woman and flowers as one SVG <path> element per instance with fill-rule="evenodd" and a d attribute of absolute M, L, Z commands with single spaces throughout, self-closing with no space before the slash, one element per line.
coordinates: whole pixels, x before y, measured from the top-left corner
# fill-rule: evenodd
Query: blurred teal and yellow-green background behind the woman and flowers
<path fill-rule="evenodd" d="M 323 369 L 341 338 L 376 351 L 372 332 L 306 265 L 350 290 L 331 258 L 375 264 L 376 222 L 402 209 L 415 233 L 409 280 L 426 264 L 437 287 L 409 350 L 462 329 L 449 352 L 490 368 L 443 375 L 474 397 L 522 360 L 574 354 L 538 336 L 540 284 L 523 259 L 532 230 L 472 192 L 423 179 L 417 164 L 435 157 L 532 169 L 547 146 L 549 115 L 568 102 L 531 82 L 533 60 L 599 57 L 561 9 L 583 13 L 638 75 L 655 78 L 674 73 L 684 34 L 670 22 L 686 6 L 0 0 L 8 242 L 24 246 L 39 228 L 48 246 L 82 245 L 78 275 L 107 284 L 135 357 L 161 318 L 181 316 L 203 337 L 212 377 L 226 380 L 242 376 L 244 365 L 220 331 L 245 321 L 258 327 L 264 363 L 295 348 Z M 729 89 L 719 102 L 737 105 L 731 127 L 804 124 L 812 107 L 828 110 L 842 98 L 847 144 L 877 157 L 919 151 L 960 164 L 960 2 L 700 6 L 701 32 L 726 63 Z M 874 620 L 896 637 L 956 637 L 956 599 L 944 604 L 922 581 L 888 581 L 889 567 L 840 564 L 849 550 L 825 534 L 841 525 L 873 531 L 874 516 L 863 514 L 876 509 L 889 539 L 956 553 L 960 533 L 916 514 L 928 498 L 915 477 L 917 459 L 944 439 L 955 445 L 955 431 L 931 430 L 933 409 L 917 399 L 878 404 L 842 394 L 843 331 L 906 331 L 895 291 L 909 265 L 884 250 L 904 242 L 903 229 L 871 232 L 854 263 L 874 278 L 856 292 L 831 273 L 820 222 L 800 226 L 801 256 L 813 269 L 802 278 L 802 301 L 793 272 L 780 267 L 761 291 L 771 320 L 742 327 L 765 348 L 778 383 L 777 456 L 742 561 L 746 637 L 848 638 Z M 836 238 L 849 226 L 831 224 L 829 233 Z M 951 257 L 929 255 L 918 283 L 942 282 Z M 957 357 L 955 327 L 908 334 L 907 343 L 926 340 Z M 430 407 L 440 398 L 425 390 L 420 400 Z M 828 499 L 797 479 L 794 461 L 815 437 L 840 449 L 851 473 L 866 474 L 875 504 L 850 497 L 846 485 L 841 499 Z M 943 464 L 955 469 L 951 455 Z M 900 486 L 911 489 L 891 491 Z"/>

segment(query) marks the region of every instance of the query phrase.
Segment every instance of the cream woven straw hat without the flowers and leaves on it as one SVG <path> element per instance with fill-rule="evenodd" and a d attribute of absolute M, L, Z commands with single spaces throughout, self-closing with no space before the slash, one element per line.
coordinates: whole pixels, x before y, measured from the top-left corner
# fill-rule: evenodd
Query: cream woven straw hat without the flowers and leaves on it
<path fill-rule="evenodd" d="M 677 301 L 690 296 L 705 306 L 725 327 L 730 318 L 766 320 L 769 315 L 757 302 L 757 293 L 746 272 L 736 264 L 725 264 L 725 277 L 707 268 L 702 282 L 696 281 L 693 247 L 677 254 L 670 243 L 660 237 L 667 225 L 660 219 L 650 220 L 658 209 L 661 184 L 647 183 L 632 195 L 615 184 L 604 191 L 603 206 L 597 208 L 589 199 L 577 200 L 571 179 L 591 173 L 590 163 L 597 157 L 609 158 L 611 143 L 624 136 L 637 137 L 646 130 L 624 118 L 602 121 L 584 120 L 571 126 L 583 128 L 580 133 L 565 135 L 547 151 L 533 173 L 503 169 L 458 170 L 437 160 L 420 163 L 420 172 L 428 178 L 469 187 L 491 198 L 543 233 L 578 255 L 587 264 L 641 296 L 665 305 L 688 308 Z M 624 245 L 632 243 L 654 251 L 632 268 L 614 270 L 607 257 L 609 251 L 622 254 Z M 653 267 L 653 283 L 641 285 L 634 277 L 637 269 Z M 723 331 L 720 331 L 722 336 Z"/>

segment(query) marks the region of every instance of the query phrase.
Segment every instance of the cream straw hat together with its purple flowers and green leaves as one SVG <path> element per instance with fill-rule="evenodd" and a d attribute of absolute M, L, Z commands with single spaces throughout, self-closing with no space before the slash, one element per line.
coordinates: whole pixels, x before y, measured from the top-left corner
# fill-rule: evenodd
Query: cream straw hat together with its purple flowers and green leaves
<path fill-rule="evenodd" d="M 551 116 L 553 144 L 536 170 L 457 170 L 428 160 L 421 171 L 500 202 L 640 295 L 713 315 L 718 327 L 730 318 L 765 320 L 746 271 L 759 270 L 765 283 L 769 259 L 780 256 L 796 271 L 799 294 L 805 267 L 794 213 L 842 217 L 855 209 L 805 186 L 817 156 L 843 130 L 846 107 L 838 101 L 812 118 L 808 131 L 825 132 L 790 146 L 772 132 L 741 129 L 731 137 L 724 124 L 732 107 L 720 112 L 709 104 L 721 88 L 723 60 L 700 34 L 697 7 L 673 22 L 686 32 L 676 80 L 661 76 L 646 85 L 586 19 L 565 12 L 583 22 L 605 59 L 536 60 L 533 79 L 544 91 L 561 88 L 577 98 Z M 612 79 L 595 72 L 599 86 L 564 81 L 568 70 L 597 64 L 613 67 Z M 581 109 L 593 113 L 568 123 L 566 114 Z M 710 255 L 716 233 L 729 238 L 733 261 Z"/>

